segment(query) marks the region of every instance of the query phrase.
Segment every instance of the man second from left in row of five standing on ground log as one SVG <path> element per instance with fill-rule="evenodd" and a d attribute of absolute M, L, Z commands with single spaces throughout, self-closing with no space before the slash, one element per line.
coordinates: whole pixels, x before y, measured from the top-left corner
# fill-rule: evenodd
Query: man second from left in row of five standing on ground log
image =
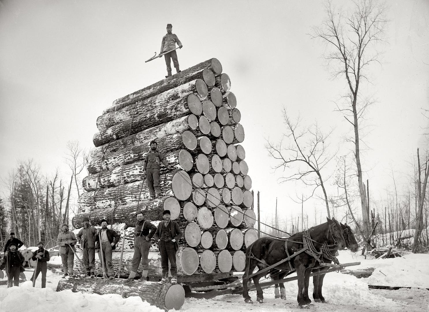
<path fill-rule="evenodd" d="M 94 277 L 95 267 L 95 240 L 97 229 L 89 226 L 89 218 L 83 218 L 83 227 L 76 234 L 76 239 L 83 248 L 83 263 L 85 265 L 86 276 Z"/>

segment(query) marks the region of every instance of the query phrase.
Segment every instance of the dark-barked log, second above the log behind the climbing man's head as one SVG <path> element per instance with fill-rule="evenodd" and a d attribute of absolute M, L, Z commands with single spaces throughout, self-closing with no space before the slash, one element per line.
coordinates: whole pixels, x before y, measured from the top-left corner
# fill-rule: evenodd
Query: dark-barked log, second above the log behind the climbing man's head
<path fill-rule="evenodd" d="M 167 103 L 157 109 L 151 110 L 151 112 L 147 114 L 138 115 L 131 120 L 121 122 L 106 130 L 97 132 L 94 134 L 92 141 L 95 146 L 100 146 L 185 115 L 201 115 L 201 112 L 201 101 L 195 94 L 191 94 L 186 98 L 175 100 L 172 103 Z"/>

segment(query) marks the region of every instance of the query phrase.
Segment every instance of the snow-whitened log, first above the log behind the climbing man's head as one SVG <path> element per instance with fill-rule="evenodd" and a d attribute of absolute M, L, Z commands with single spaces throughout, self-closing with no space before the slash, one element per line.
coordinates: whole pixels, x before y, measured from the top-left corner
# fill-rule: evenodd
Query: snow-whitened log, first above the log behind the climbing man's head
<path fill-rule="evenodd" d="M 93 159 L 106 158 L 108 155 L 115 153 L 116 151 L 131 148 L 134 145 L 149 146 L 151 140 L 159 140 L 165 136 L 183 133 L 186 130 L 189 130 L 194 134 L 199 133 L 199 129 L 197 129 L 198 118 L 193 114 L 186 115 L 139 133 L 131 134 L 123 139 L 118 139 L 114 142 L 91 148 L 90 156 Z M 88 167 L 88 171 L 90 170 L 91 167 Z M 89 173 L 91 173 L 91 171 Z"/>

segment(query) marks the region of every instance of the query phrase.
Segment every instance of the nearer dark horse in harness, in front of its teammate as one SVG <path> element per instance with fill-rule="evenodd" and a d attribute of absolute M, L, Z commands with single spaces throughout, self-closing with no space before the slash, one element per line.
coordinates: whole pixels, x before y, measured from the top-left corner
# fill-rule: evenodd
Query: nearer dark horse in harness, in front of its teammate
<path fill-rule="evenodd" d="M 336 246 L 344 249 L 346 242 L 343 230 L 338 221 L 334 218 L 326 218 L 327 222 L 311 227 L 305 232 L 298 232 L 287 239 L 272 239 L 263 237 L 253 242 L 246 251 L 246 270 L 243 276 L 243 297 L 246 303 L 253 303 L 248 293 L 248 276 L 258 267 L 258 272 L 253 276 L 256 286 L 257 301 L 263 303 L 263 292 L 259 285 L 259 279 L 268 274 L 265 268 L 277 264 L 279 261 L 290 257 L 290 261 L 285 261 L 275 266 L 275 269 L 284 271 L 284 275 L 290 271 L 295 271 L 298 276 L 298 304 L 305 306 L 311 303 L 308 297 L 308 284 L 312 267 L 322 260 L 321 248 L 323 244 L 331 248 Z M 287 246 L 287 248 L 286 248 Z"/>

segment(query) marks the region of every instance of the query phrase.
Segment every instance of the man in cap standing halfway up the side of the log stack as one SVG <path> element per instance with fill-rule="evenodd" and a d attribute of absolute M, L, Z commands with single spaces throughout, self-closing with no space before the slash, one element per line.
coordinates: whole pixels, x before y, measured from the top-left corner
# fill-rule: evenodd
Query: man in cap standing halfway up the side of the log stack
<path fill-rule="evenodd" d="M 172 166 L 164 159 L 164 154 L 157 150 L 157 142 L 151 141 L 151 151 L 146 154 L 145 161 L 143 162 L 143 179 L 148 177 L 148 188 L 151 199 L 155 199 L 159 196 L 164 196 L 161 192 L 160 185 L 160 165 L 161 163 L 172 169 Z"/>

